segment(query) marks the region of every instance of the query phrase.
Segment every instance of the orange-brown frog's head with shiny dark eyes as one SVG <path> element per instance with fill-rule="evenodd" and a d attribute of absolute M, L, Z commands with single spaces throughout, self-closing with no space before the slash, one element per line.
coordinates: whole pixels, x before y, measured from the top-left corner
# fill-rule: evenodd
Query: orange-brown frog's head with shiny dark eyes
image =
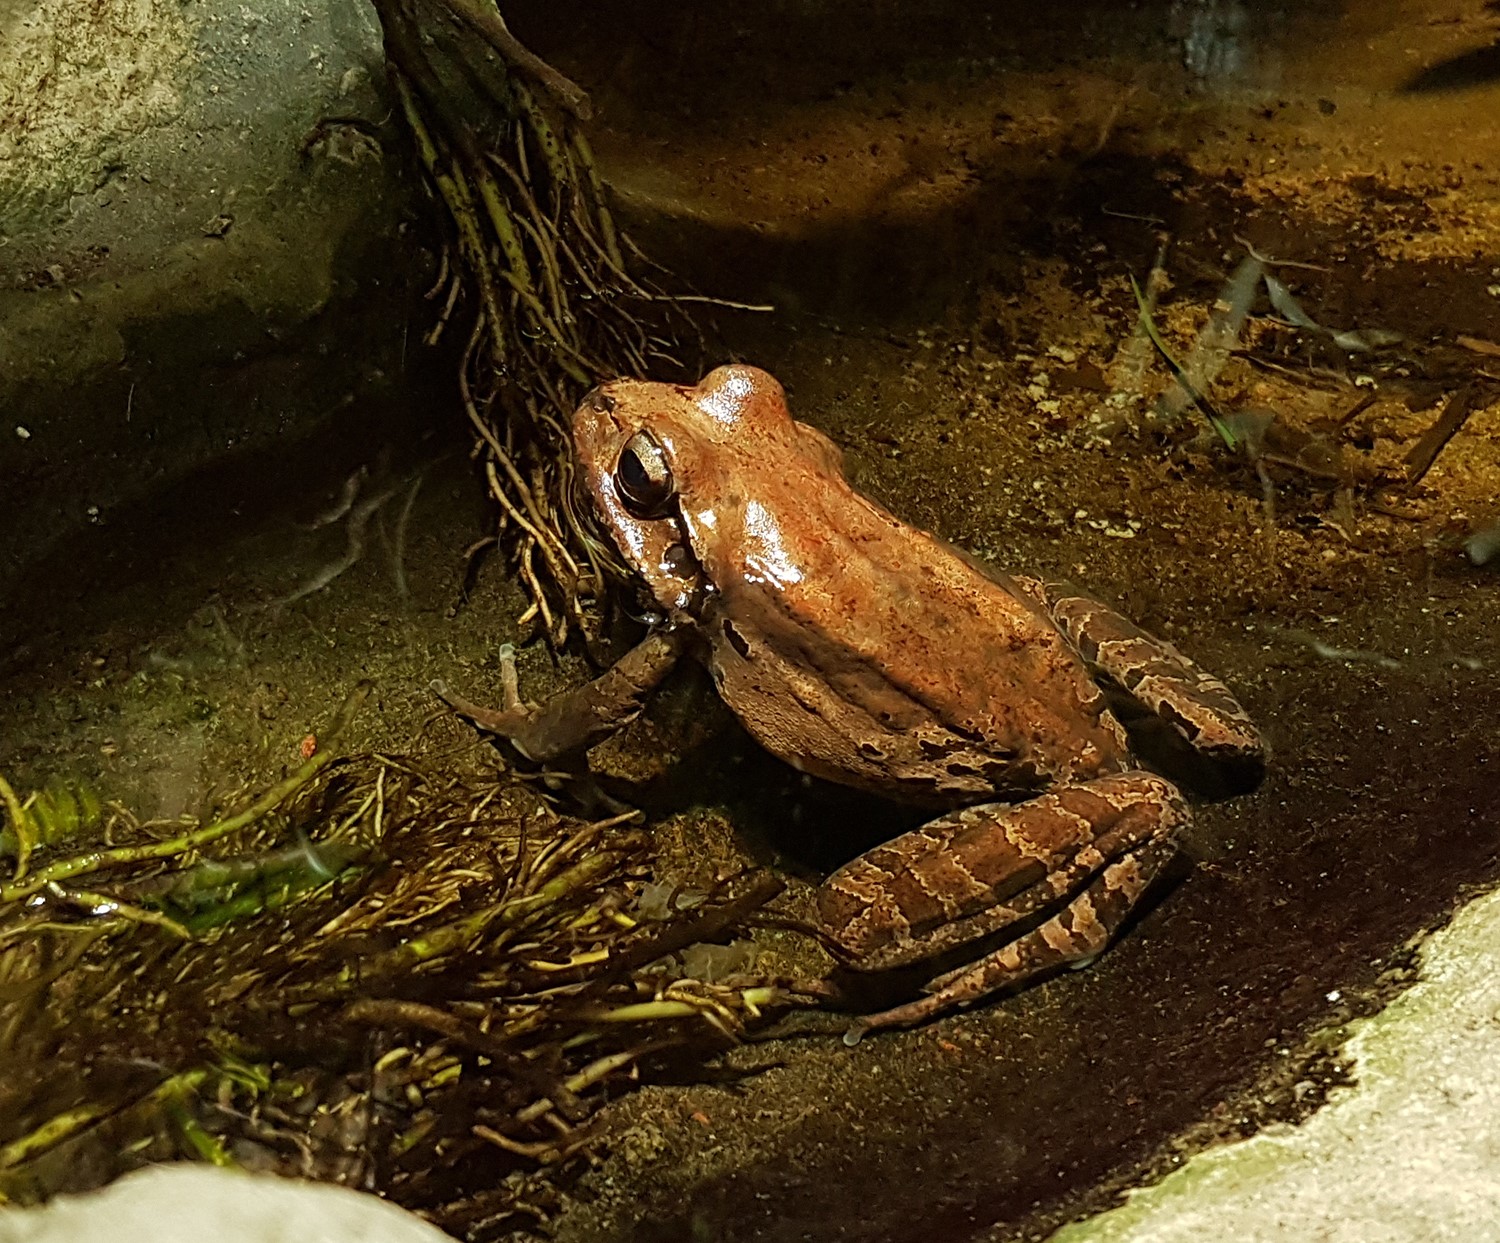
<path fill-rule="evenodd" d="M 776 378 L 744 364 L 693 385 L 602 384 L 573 415 L 573 444 L 600 523 L 669 613 L 694 610 L 720 532 L 744 529 L 764 480 L 808 465 L 840 474 Z"/>

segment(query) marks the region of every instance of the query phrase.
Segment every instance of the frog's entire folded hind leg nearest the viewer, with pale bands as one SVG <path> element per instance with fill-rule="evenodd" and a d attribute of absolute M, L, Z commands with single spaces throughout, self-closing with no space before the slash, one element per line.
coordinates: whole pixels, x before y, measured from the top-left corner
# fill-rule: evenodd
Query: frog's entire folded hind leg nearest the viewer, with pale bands
<path fill-rule="evenodd" d="M 1011 925 L 1026 928 L 930 981 L 921 1000 L 860 1018 L 846 1042 L 1095 957 L 1172 858 L 1188 820 L 1176 786 L 1131 771 L 1023 804 L 966 807 L 846 864 L 819 889 L 818 912 L 858 970 L 903 967 Z M 1042 922 L 1028 927 L 1036 918 Z"/>

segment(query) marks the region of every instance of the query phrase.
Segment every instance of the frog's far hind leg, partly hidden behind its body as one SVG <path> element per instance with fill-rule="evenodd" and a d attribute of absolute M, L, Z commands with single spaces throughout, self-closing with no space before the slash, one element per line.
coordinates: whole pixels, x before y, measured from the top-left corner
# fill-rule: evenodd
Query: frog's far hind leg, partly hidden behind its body
<path fill-rule="evenodd" d="M 1218 678 L 1108 604 L 1052 583 L 1044 592 L 1052 619 L 1078 655 L 1119 682 L 1194 748 L 1220 759 L 1260 754 L 1256 726 Z"/>

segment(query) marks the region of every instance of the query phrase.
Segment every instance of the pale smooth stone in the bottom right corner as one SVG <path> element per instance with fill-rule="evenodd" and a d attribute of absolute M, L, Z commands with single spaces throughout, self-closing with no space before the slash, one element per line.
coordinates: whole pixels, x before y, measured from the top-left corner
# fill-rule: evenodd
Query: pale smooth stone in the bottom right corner
<path fill-rule="evenodd" d="M 1500 1239 L 1500 894 L 1422 949 L 1422 979 L 1358 1024 L 1358 1084 L 1298 1128 L 1206 1152 L 1054 1243 Z"/>

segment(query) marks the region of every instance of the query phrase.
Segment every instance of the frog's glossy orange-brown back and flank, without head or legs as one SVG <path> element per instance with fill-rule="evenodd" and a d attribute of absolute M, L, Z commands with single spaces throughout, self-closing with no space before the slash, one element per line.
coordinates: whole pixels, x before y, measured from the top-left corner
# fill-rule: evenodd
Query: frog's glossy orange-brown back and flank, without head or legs
<path fill-rule="evenodd" d="M 842 478 L 792 469 L 778 492 L 718 532 L 704 618 L 720 693 L 768 750 L 938 805 L 1120 766 L 1100 688 L 1004 576 Z"/>

